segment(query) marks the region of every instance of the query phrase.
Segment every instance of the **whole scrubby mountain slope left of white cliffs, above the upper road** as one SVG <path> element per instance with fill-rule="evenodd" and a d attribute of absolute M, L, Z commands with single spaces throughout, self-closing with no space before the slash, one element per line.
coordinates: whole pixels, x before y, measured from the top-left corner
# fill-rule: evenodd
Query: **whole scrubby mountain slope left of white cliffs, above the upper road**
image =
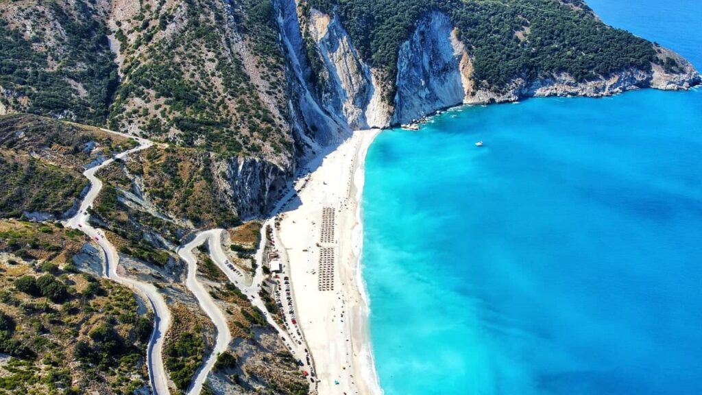
<path fill-rule="evenodd" d="M 112 15 L 112 32 L 109 12 L 88 0 L 2 2 L 0 105 L 223 157 L 291 155 L 271 0 L 139 4 Z"/>

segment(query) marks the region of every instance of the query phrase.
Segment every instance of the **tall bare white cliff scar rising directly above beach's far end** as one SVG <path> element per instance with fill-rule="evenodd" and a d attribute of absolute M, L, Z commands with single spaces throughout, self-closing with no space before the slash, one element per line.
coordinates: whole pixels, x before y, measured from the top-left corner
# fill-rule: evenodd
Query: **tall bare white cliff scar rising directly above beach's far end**
<path fill-rule="evenodd" d="M 376 72 L 359 56 L 338 18 L 315 10 L 308 18 L 294 0 L 274 4 L 300 162 L 319 148 L 340 143 L 354 129 L 388 127 L 392 106 L 383 101 Z M 317 70 L 307 58 L 310 42 L 322 65 Z"/>

